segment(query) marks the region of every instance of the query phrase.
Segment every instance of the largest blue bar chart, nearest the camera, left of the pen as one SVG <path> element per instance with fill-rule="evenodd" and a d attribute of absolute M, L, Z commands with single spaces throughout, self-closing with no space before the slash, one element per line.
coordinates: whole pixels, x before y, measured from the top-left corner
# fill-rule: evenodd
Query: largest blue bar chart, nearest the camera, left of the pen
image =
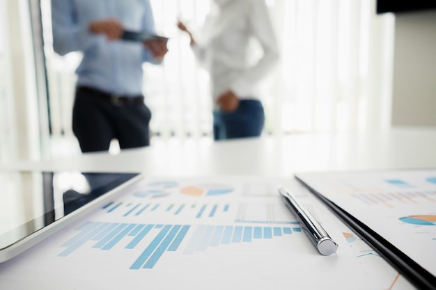
<path fill-rule="evenodd" d="M 145 249 L 132 262 L 130 269 L 150 269 L 159 262 L 165 252 L 178 251 L 191 228 L 192 225 L 87 222 L 75 229 L 77 231 L 75 236 L 61 244 L 63 250 L 58 256 L 72 255 L 86 243 L 91 249 L 105 252 L 120 247 L 125 250 L 144 247 Z M 243 245 L 260 239 L 279 239 L 293 232 L 301 232 L 301 229 L 299 227 L 291 229 L 290 227 L 196 225 L 183 254 L 193 255 L 194 252 L 205 252 L 210 247 L 216 248 L 232 243 Z M 148 238 L 144 239 L 146 236 Z"/>

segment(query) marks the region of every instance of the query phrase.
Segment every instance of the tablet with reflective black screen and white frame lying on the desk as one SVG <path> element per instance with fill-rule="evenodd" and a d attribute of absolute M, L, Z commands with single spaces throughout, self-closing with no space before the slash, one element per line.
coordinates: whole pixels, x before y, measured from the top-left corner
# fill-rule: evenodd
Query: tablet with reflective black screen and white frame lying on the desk
<path fill-rule="evenodd" d="M 0 263 L 100 206 L 139 173 L 0 171 Z"/>

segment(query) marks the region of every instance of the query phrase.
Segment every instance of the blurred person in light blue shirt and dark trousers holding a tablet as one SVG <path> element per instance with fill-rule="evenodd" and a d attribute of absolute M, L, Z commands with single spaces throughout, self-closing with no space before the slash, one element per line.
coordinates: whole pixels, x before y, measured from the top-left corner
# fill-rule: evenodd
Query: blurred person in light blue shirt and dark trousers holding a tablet
<path fill-rule="evenodd" d="M 81 51 L 72 129 L 82 152 L 150 145 L 143 63 L 160 64 L 165 40 L 122 39 L 124 31 L 155 34 L 148 0 L 52 0 L 54 51 Z"/>

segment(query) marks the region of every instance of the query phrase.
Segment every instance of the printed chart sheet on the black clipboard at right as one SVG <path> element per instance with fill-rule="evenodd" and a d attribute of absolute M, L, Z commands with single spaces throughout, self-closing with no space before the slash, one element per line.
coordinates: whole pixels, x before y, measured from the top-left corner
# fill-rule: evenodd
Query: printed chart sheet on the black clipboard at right
<path fill-rule="evenodd" d="M 436 287 L 436 170 L 316 172 L 296 177 L 428 271 L 429 285 Z"/>

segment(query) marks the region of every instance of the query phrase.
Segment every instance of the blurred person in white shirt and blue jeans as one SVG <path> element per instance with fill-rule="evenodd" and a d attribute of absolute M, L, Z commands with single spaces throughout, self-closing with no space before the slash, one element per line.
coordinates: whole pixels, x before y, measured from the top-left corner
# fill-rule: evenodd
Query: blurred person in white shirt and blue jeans
<path fill-rule="evenodd" d="M 215 140 L 257 137 L 265 112 L 256 90 L 279 59 L 277 39 L 265 0 L 214 0 L 199 35 L 179 21 L 194 55 L 211 79 Z M 251 61 L 251 40 L 262 55 Z"/>

